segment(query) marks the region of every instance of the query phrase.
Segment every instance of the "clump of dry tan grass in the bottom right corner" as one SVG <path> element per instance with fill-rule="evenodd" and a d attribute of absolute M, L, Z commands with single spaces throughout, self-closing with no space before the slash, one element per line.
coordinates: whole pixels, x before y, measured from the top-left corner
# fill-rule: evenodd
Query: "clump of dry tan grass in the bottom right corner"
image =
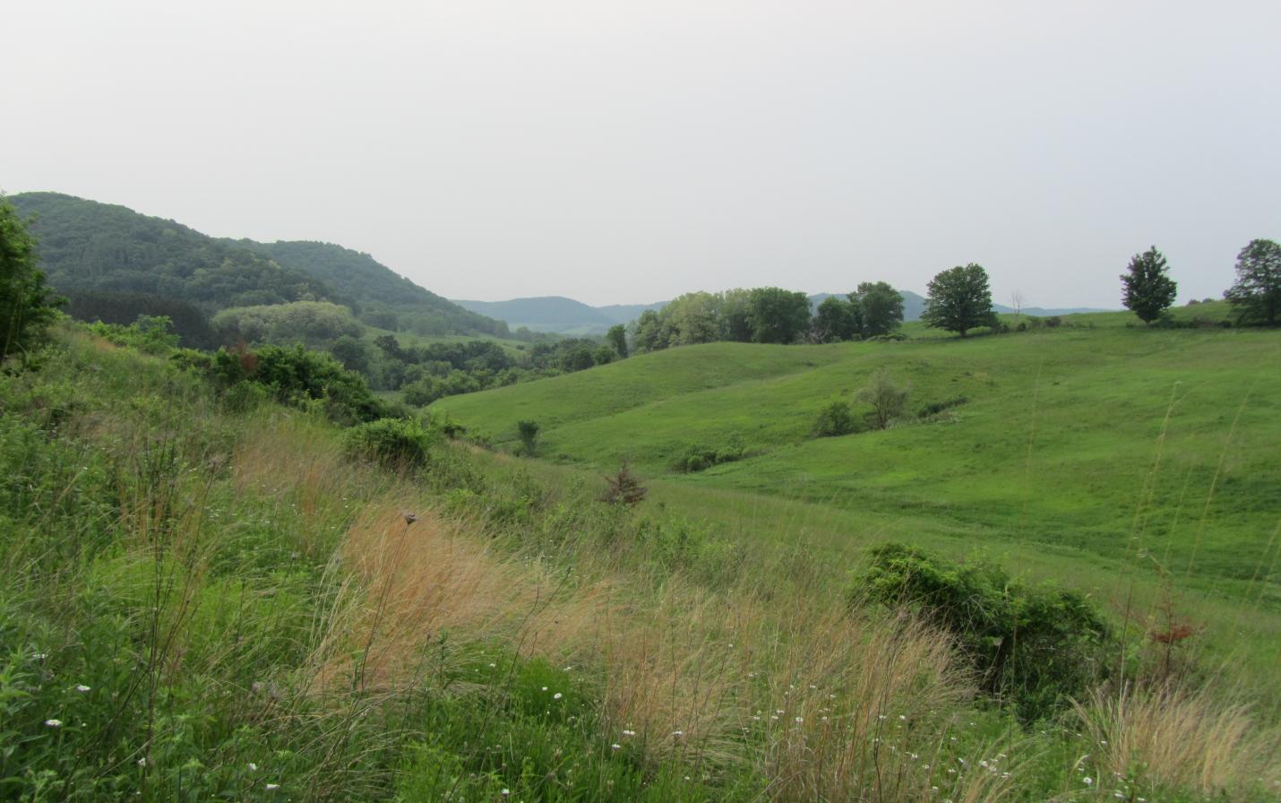
<path fill-rule="evenodd" d="M 1232 798 L 1281 779 L 1278 734 L 1254 729 L 1245 706 L 1223 704 L 1205 689 L 1126 685 L 1095 692 L 1076 711 L 1107 772 Z"/>

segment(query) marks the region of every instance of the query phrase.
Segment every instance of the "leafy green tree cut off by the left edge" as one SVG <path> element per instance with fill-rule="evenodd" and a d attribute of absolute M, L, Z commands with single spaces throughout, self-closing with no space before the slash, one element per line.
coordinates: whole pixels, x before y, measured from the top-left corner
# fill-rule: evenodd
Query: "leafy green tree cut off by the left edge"
<path fill-rule="evenodd" d="M 0 362 L 26 355 L 44 336 L 59 304 L 61 298 L 45 286 L 26 222 L 0 197 Z"/>

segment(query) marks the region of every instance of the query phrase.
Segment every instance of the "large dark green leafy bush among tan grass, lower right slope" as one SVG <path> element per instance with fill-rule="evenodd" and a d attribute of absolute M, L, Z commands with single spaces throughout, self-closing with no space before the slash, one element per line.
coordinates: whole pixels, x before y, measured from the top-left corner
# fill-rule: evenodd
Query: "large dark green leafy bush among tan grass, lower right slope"
<path fill-rule="evenodd" d="M 949 633 L 983 675 L 983 688 L 1013 702 L 1024 720 L 1081 695 L 1103 671 L 1112 633 L 1082 596 L 1030 588 L 995 564 L 954 564 L 916 547 L 884 544 L 851 590 L 907 606 Z"/>

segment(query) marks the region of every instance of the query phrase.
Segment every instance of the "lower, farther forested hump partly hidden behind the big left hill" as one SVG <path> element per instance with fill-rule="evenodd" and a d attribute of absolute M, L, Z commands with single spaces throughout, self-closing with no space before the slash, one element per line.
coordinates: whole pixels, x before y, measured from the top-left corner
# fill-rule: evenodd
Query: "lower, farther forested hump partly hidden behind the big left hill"
<path fill-rule="evenodd" d="M 507 324 L 464 309 L 398 275 L 368 254 L 327 242 L 225 241 L 302 270 L 355 301 L 365 323 L 419 334 L 492 334 L 506 337 Z"/>

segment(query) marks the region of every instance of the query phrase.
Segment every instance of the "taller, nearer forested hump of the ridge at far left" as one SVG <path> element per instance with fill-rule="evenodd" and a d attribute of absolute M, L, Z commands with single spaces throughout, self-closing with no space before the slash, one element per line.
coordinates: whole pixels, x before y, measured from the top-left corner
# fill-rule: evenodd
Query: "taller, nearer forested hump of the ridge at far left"
<path fill-rule="evenodd" d="M 9 196 L 36 216 L 49 283 L 64 293 L 101 289 L 178 298 L 213 311 L 304 298 L 345 301 L 328 284 L 181 223 L 56 192 Z"/>

